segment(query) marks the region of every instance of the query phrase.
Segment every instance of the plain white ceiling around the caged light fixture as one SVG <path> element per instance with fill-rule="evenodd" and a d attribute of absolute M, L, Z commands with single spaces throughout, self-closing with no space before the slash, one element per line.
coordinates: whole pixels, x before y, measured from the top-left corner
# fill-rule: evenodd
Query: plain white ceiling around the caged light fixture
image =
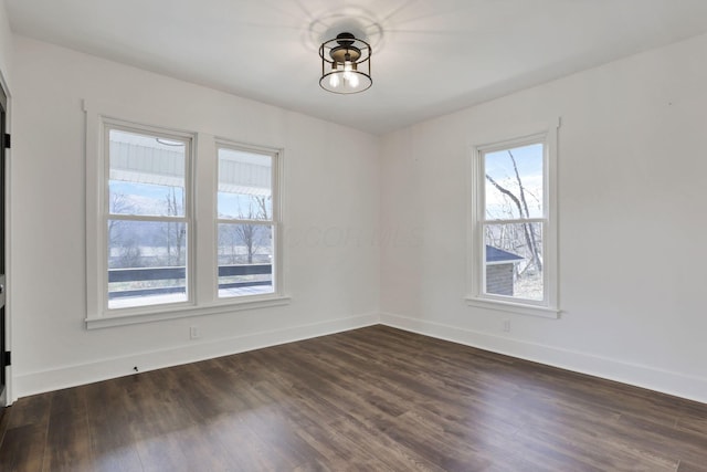
<path fill-rule="evenodd" d="M 15 33 L 381 134 L 707 32 L 707 0 L 6 0 Z M 352 30 L 373 86 L 319 87 Z M 700 60 L 704 60 L 701 57 Z"/>

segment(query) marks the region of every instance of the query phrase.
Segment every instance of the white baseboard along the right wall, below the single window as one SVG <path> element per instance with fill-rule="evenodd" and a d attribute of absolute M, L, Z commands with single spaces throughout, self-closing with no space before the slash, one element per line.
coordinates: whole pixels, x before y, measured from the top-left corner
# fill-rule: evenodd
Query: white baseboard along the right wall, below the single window
<path fill-rule="evenodd" d="M 391 313 L 381 313 L 380 319 L 383 325 L 412 333 L 707 403 L 707 378 L 704 377 L 494 336 Z"/>

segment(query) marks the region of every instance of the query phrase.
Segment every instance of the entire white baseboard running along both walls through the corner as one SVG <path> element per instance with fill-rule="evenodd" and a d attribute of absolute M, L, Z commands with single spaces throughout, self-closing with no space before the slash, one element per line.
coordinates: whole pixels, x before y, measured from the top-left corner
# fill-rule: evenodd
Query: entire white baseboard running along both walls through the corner
<path fill-rule="evenodd" d="M 140 371 L 155 370 L 325 336 L 379 323 L 439 339 L 707 403 L 707 378 L 624 363 L 587 353 L 527 343 L 509 337 L 494 336 L 488 333 L 463 329 L 391 313 L 367 314 L 24 374 L 13 379 L 12 400 L 14 401 L 19 397 L 29 395 L 131 375 L 134 374 L 134 366 L 138 366 Z"/>

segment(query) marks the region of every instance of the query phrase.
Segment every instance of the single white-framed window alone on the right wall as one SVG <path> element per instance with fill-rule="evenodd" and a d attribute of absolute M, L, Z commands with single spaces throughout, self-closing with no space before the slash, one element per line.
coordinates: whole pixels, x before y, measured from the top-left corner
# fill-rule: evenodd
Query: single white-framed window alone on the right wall
<path fill-rule="evenodd" d="M 477 146 L 472 305 L 557 316 L 556 132 Z"/>

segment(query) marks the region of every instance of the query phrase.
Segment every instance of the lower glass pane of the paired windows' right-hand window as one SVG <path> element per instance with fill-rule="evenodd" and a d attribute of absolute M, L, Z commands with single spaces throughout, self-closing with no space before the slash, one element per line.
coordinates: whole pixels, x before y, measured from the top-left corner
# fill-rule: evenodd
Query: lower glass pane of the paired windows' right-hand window
<path fill-rule="evenodd" d="M 219 224 L 219 297 L 273 292 L 273 227 Z"/>

